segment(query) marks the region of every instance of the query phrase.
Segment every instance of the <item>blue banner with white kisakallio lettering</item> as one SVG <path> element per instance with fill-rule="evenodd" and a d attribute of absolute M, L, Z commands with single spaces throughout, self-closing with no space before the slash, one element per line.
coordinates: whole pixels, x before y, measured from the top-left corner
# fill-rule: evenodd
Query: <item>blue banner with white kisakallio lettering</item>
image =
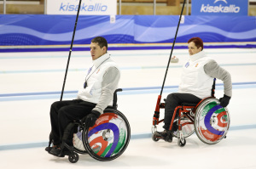
<path fill-rule="evenodd" d="M 193 0 L 191 14 L 247 15 L 248 0 Z"/>

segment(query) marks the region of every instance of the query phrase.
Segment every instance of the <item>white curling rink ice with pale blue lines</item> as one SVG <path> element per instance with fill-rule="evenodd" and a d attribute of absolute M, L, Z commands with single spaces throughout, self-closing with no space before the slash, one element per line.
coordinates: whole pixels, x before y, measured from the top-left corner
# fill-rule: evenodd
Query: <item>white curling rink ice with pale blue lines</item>
<path fill-rule="evenodd" d="M 131 125 L 131 141 L 124 154 L 113 161 L 96 161 L 79 155 L 77 163 L 67 156 L 49 155 L 49 107 L 60 100 L 68 52 L 0 53 L 0 168 L 211 168 L 256 169 L 256 48 L 205 48 L 208 56 L 232 76 L 230 131 L 218 144 L 204 144 L 193 134 L 187 144 L 154 142 L 151 127 L 155 104 L 171 50 L 109 50 L 121 70 L 118 110 Z M 178 63 L 169 66 L 162 100 L 177 91 L 187 49 L 174 49 Z M 83 86 L 90 52 L 73 52 L 63 100 L 75 99 Z M 217 80 L 216 98 L 223 96 Z M 160 119 L 164 117 L 161 111 Z M 158 130 L 162 131 L 161 125 Z"/>

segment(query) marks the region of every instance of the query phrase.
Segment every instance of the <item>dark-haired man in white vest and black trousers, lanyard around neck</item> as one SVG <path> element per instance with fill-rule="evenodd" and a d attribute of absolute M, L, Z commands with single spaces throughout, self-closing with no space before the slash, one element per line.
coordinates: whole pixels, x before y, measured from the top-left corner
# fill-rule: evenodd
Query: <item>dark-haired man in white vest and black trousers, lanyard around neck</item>
<path fill-rule="evenodd" d="M 69 151 L 66 147 L 60 148 L 67 125 L 82 119 L 86 127 L 93 127 L 103 110 L 112 103 L 120 73 L 118 65 L 107 51 L 108 42 L 104 37 L 93 38 L 90 43 L 92 66 L 85 77 L 84 87 L 79 89 L 77 99 L 57 101 L 51 104 L 50 136 L 53 138 L 53 146 L 45 148 L 49 154 L 68 155 Z M 65 144 L 73 146 L 73 129 L 68 134 Z"/>

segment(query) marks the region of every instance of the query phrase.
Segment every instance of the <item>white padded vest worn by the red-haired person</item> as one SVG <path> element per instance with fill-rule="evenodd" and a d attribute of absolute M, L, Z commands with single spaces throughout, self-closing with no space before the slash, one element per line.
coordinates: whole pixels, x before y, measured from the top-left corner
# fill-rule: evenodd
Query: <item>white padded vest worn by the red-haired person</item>
<path fill-rule="evenodd" d="M 213 78 L 205 73 L 204 65 L 211 60 L 204 51 L 189 56 L 189 61 L 183 65 L 178 93 L 194 94 L 200 99 L 210 97 Z"/>

